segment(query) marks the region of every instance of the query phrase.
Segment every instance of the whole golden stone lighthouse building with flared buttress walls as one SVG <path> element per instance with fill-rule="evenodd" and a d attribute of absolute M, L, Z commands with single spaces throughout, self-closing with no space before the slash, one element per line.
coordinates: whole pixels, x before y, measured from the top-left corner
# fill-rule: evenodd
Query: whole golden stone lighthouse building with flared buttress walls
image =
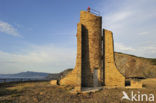
<path fill-rule="evenodd" d="M 81 11 L 76 36 L 76 65 L 60 80 L 60 85 L 72 85 L 77 91 L 83 87 L 124 87 L 125 77 L 114 61 L 113 34 L 102 29 L 102 17 Z"/>

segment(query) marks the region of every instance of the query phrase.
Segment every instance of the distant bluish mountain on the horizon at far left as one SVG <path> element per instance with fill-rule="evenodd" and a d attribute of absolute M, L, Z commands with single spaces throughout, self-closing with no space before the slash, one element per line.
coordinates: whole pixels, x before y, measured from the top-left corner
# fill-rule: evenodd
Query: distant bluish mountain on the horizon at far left
<path fill-rule="evenodd" d="M 27 71 L 16 74 L 0 74 L 0 78 L 45 78 L 48 75 L 49 73 Z"/>

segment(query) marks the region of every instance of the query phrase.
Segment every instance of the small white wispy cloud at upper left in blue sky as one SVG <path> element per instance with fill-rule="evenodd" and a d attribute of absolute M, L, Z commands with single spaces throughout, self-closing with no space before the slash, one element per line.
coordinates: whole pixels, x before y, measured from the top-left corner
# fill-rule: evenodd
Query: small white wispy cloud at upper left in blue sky
<path fill-rule="evenodd" d="M 16 37 L 21 37 L 16 28 L 14 28 L 11 24 L 4 21 L 0 21 L 0 32 Z"/>

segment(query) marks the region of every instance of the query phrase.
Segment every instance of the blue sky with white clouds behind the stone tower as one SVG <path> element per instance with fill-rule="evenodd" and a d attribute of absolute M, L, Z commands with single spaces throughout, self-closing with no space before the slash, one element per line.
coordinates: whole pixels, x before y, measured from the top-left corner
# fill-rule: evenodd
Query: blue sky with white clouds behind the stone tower
<path fill-rule="evenodd" d="M 0 74 L 74 68 L 80 11 L 100 12 L 115 51 L 156 58 L 156 0 L 0 0 Z"/>

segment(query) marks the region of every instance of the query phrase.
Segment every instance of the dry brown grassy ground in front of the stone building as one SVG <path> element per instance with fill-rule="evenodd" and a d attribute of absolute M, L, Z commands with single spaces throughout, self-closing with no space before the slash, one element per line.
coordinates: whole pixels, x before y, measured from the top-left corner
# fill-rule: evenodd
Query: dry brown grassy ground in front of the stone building
<path fill-rule="evenodd" d="M 85 94 L 73 94 L 70 92 L 71 87 L 52 86 L 49 82 L 0 84 L 0 103 L 132 103 L 121 100 L 123 91 L 129 95 L 133 91 L 156 96 L 156 79 L 147 79 L 143 83 L 143 89 L 104 88 Z"/>

